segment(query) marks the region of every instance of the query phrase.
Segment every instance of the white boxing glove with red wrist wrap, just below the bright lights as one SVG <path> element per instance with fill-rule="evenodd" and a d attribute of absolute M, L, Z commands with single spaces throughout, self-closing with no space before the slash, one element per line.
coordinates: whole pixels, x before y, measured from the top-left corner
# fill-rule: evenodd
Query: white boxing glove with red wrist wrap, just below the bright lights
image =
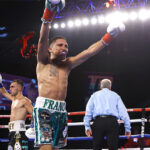
<path fill-rule="evenodd" d="M 125 25 L 123 23 L 112 23 L 107 27 L 107 33 L 102 37 L 102 42 L 105 45 L 109 43 L 119 34 L 119 32 L 125 31 Z"/>

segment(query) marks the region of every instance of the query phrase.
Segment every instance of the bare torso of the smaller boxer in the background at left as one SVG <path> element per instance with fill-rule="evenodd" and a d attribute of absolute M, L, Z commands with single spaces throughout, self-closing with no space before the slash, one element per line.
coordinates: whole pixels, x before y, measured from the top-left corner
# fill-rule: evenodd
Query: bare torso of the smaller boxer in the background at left
<path fill-rule="evenodd" d="M 25 99 L 25 97 L 22 97 L 21 99 L 15 99 L 12 101 L 10 121 L 26 119 L 27 115 L 27 110 L 25 108 L 26 100 L 27 99 Z"/>

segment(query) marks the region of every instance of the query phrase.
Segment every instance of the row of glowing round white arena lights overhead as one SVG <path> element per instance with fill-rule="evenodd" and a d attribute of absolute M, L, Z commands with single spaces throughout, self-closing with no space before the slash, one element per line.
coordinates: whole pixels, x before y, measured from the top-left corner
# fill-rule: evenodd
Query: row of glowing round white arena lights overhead
<path fill-rule="evenodd" d="M 115 22 L 126 22 L 126 21 L 134 21 L 134 20 L 141 20 L 145 21 L 147 19 L 150 19 L 150 10 L 141 9 L 138 11 L 131 11 L 131 12 L 125 12 L 125 11 L 113 11 L 111 14 L 100 14 L 99 16 L 93 16 L 91 18 L 85 17 L 85 18 L 75 18 L 74 20 L 69 20 L 67 23 L 61 23 L 60 27 L 65 28 L 68 26 L 69 28 L 72 27 L 81 27 L 81 26 L 87 26 L 87 25 L 96 25 L 97 23 L 103 24 L 103 23 L 115 23 Z M 57 29 L 59 28 L 58 24 L 55 24 L 52 26 L 53 28 Z"/>

